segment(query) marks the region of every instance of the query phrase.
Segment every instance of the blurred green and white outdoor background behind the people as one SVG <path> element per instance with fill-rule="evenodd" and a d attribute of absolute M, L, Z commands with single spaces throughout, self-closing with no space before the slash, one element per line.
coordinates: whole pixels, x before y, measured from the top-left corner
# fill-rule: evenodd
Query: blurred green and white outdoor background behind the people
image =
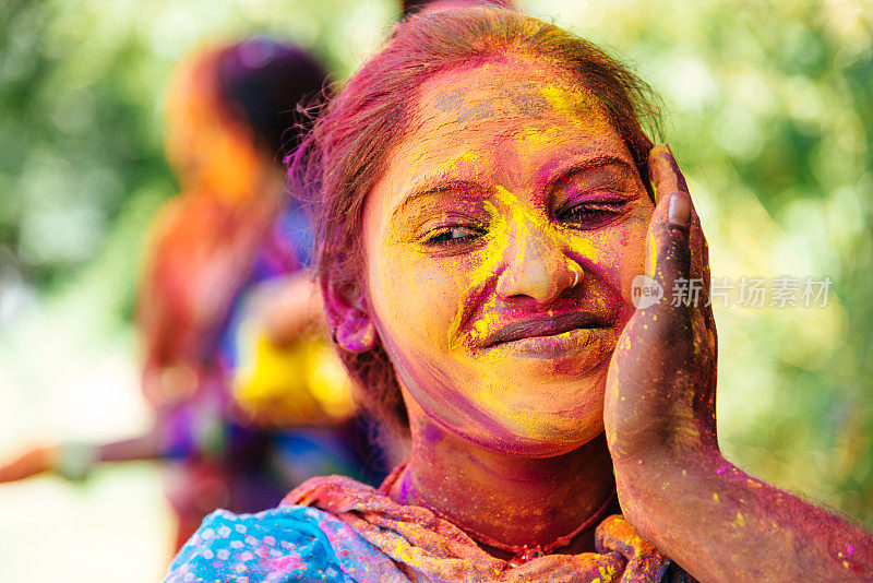
<path fill-rule="evenodd" d="M 527 0 L 663 97 L 714 276 L 830 277 L 826 308 L 719 308 L 719 431 L 744 469 L 873 525 L 873 3 Z M 203 43 L 268 34 L 342 78 L 390 0 L 0 3 L 0 459 L 148 425 L 132 331 L 144 233 L 177 191 L 163 95 Z M 159 580 L 155 466 L 0 487 L 4 581 Z"/>

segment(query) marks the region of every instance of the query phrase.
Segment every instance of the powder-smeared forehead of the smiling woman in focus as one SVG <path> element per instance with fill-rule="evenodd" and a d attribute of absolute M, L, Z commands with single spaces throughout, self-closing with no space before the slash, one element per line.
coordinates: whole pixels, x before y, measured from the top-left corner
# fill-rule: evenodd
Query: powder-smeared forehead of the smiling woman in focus
<path fill-rule="evenodd" d="M 381 180 L 395 193 L 450 177 L 525 183 L 555 158 L 585 152 L 633 162 L 597 98 L 530 59 L 444 72 L 419 95 Z"/>

